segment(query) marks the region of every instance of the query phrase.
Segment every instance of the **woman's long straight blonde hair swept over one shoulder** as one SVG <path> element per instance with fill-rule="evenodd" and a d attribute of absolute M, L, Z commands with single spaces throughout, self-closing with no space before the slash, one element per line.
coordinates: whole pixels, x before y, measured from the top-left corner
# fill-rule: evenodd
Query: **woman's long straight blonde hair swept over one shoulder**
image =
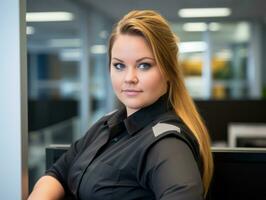
<path fill-rule="evenodd" d="M 111 51 L 119 34 L 139 35 L 145 38 L 155 56 L 156 63 L 169 82 L 169 101 L 176 114 L 196 137 L 203 162 L 203 186 L 206 195 L 213 173 L 210 138 L 196 106 L 186 90 L 177 59 L 178 39 L 167 21 L 152 10 L 135 10 L 125 15 L 115 26 L 109 40 L 109 64 Z"/>

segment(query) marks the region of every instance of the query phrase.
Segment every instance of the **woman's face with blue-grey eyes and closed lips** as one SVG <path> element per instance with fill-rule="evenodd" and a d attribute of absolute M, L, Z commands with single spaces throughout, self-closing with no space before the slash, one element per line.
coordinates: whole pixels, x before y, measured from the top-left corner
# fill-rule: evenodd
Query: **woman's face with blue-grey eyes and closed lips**
<path fill-rule="evenodd" d="M 141 36 L 119 35 L 111 52 L 111 81 L 127 115 L 151 105 L 167 91 L 167 82 Z"/>

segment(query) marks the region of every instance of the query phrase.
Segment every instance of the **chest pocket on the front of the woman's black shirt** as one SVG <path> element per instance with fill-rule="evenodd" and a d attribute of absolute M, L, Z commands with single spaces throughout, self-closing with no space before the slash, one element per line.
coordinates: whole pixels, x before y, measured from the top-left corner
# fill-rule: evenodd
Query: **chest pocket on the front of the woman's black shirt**
<path fill-rule="evenodd" d="M 120 170 L 97 161 L 89 166 L 83 175 L 79 188 L 82 200 L 111 200 L 114 188 L 119 180 Z"/>

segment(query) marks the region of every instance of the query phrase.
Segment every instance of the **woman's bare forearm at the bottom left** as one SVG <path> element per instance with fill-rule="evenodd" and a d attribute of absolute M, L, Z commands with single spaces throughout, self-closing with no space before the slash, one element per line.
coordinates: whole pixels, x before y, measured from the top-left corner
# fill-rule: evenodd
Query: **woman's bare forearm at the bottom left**
<path fill-rule="evenodd" d="M 64 188 L 52 176 L 43 176 L 35 184 L 28 200 L 59 200 L 64 197 Z"/>

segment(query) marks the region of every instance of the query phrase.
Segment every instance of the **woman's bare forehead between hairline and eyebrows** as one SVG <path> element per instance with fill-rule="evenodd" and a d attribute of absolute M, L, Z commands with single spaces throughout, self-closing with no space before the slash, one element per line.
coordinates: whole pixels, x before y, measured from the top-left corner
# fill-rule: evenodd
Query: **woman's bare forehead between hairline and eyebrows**
<path fill-rule="evenodd" d="M 118 35 L 112 48 L 112 57 L 151 57 L 153 52 L 142 36 L 122 34 Z"/>

